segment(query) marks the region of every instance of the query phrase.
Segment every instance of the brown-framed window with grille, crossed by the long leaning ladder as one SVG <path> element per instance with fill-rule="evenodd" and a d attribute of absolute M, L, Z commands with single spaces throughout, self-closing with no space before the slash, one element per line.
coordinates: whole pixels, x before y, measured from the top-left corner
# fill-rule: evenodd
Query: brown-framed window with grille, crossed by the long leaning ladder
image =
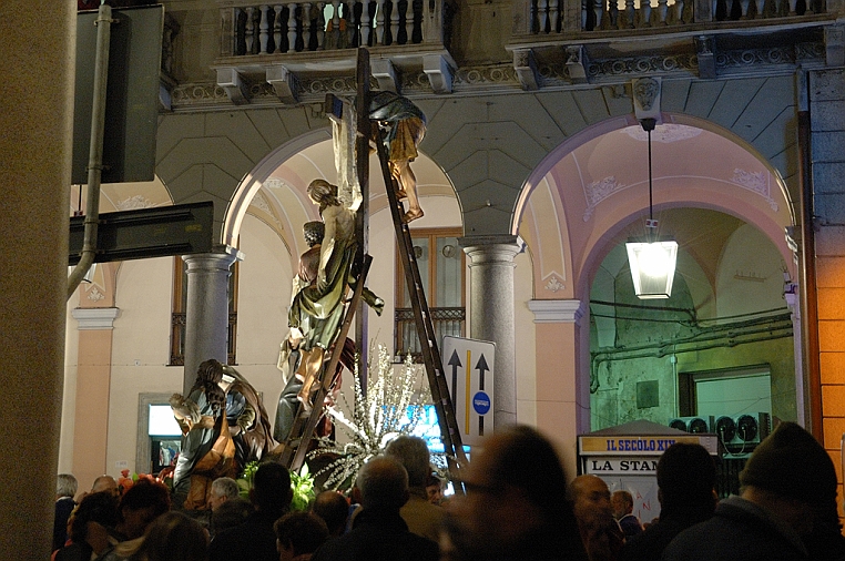
<path fill-rule="evenodd" d="M 419 276 L 426 292 L 437 343 L 445 336 L 462 337 L 466 332 L 466 256 L 458 246 L 460 230 L 413 231 L 414 251 Z M 420 361 L 419 337 L 408 297 L 408 287 L 400 261 L 396 271 L 395 351 L 410 354 Z"/>

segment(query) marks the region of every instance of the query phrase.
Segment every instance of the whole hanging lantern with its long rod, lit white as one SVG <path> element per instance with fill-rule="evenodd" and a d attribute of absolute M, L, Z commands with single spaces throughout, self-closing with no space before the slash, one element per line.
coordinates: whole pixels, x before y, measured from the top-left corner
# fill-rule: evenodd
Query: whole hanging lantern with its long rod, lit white
<path fill-rule="evenodd" d="M 640 124 L 649 135 L 649 220 L 645 221 L 645 239 L 632 238 L 625 244 L 628 263 L 638 298 L 669 298 L 675 276 L 678 242 L 658 236 L 658 221 L 652 212 L 651 178 L 651 131 L 654 130 L 656 121 L 643 119 Z"/>

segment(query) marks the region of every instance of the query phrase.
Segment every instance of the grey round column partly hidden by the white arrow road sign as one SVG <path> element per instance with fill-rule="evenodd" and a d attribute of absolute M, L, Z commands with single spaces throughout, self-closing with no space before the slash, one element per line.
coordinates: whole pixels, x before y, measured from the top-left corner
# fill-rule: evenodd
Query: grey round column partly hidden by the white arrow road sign
<path fill-rule="evenodd" d="M 517 422 L 513 258 L 525 243 L 507 235 L 462 237 L 459 243 L 470 258 L 470 337 L 496 344 L 495 430 Z"/>

